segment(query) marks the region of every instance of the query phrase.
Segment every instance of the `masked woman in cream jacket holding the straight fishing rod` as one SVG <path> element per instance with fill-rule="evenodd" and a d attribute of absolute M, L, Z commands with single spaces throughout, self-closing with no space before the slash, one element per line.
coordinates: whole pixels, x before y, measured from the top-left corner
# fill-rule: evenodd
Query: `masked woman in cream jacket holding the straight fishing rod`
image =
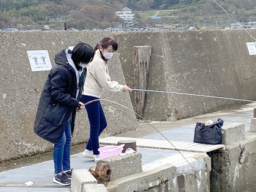
<path fill-rule="evenodd" d="M 99 99 L 103 90 L 109 92 L 131 91 L 129 86 L 120 85 L 118 82 L 112 81 L 109 76 L 108 60 L 112 58 L 117 48 L 117 43 L 109 37 L 103 38 L 94 48 L 96 52 L 91 65 L 87 67 L 82 103 Z M 107 122 L 100 101 L 87 104 L 85 108 L 90 121 L 90 139 L 82 156 L 97 161 L 100 159 L 99 136 L 106 128 Z"/>

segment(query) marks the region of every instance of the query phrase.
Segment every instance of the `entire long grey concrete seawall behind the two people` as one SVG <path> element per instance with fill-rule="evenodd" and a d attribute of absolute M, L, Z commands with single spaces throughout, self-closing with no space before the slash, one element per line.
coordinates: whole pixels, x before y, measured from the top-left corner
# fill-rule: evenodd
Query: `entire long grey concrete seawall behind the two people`
<path fill-rule="evenodd" d="M 256 31 L 250 31 L 256 36 Z M 255 100 L 256 56 L 249 56 L 246 42 L 254 41 L 236 31 L 41 31 L 1 32 L 0 61 L 0 162 L 52 149 L 32 130 L 41 89 L 49 71 L 32 72 L 27 50 L 48 50 L 52 65 L 57 52 L 79 41 L 95 46 L 103 37 L 114 37 L 118 54 L 111 59 L 113 80 L 133 87 L 133 47 L 151 46 L 147 89 Z M 119 55 L 119 57 L 118 57 Z M 123 68 L 123 71 L 122 71 Z M 133 93 L 105 92 L 102 98 L 132 109 Z M 144 118 L 183 119 L 244 104 L 241 101 L 172 94 L 146 94 Z M 129 110 L 102 102 L 108 128 L 102 137 L 135 130 L 136 117 Z M 73 144 L 87 142 L 87 113 L 77 115 Z"/>

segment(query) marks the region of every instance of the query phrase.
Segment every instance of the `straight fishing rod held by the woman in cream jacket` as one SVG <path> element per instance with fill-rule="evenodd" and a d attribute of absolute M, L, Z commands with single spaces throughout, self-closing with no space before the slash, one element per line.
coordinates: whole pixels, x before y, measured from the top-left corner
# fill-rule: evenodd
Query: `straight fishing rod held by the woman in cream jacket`
<path fill-rule="evenodd" d="M 251 102 L 251 103 L 256 102 L 256 101 L 252 101 L 252 100 L 243 100 L 240 98 L 218 97 L 218 96 L 212 96 L 212 95 L 186 94 L 183 92 L 155 91 L 155 90 L 149 90 L 149 89 L 132 89 L 132 91 L 159 92 L 159 93 L 164 93 L 164 94 L 178 94 L 178 95 L 190 95 L 190 96 L 198 96 L 198 97 L 221 98 L 224 100 L 246 101 L 246 102 Z"/>

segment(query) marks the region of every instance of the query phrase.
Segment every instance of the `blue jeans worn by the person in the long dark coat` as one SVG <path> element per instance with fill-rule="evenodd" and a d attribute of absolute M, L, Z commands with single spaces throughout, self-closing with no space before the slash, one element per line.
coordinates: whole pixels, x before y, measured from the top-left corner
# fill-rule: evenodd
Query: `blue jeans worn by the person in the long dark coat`
<path fill-rule="evenodd" d="M 58 174 L 65 170 L 70 170 L 70 146 L 71 146 L 71 121 L 67 122 L 64 133 L 58 144 L 53 147 L 54 173 Z"/>

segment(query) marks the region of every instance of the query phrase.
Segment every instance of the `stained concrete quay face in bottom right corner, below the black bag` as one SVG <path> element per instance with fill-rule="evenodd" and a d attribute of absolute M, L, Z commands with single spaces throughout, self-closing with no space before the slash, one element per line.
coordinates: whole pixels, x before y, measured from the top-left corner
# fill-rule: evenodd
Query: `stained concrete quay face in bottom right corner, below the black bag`
<path fill-rule="evenodd" d="M 210 191 L 256 191 L 255 145 L 255 132 L 248 132 L 245 139 L 225 145 L 225 150 L 208 153 L 212 159 Z"/>

